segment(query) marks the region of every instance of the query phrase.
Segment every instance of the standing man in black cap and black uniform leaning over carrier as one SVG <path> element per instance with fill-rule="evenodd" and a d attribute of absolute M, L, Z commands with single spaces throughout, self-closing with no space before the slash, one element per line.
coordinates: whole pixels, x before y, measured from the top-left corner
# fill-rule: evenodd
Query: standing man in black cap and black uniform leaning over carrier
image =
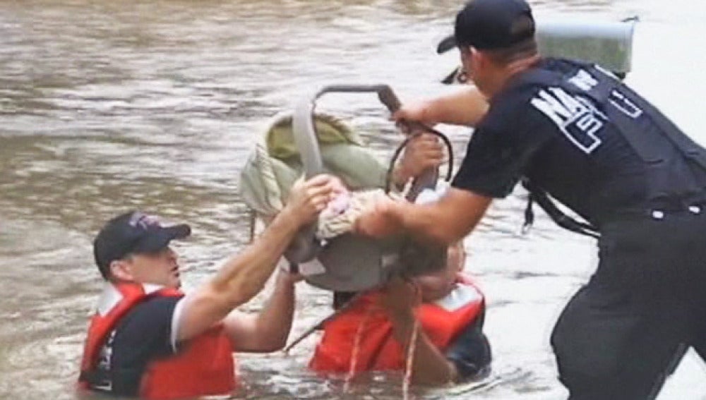
<path fill-rule="evenodd" d="M 395 115 L 476 125 L 453 188 L 380 202 L 357 230 L 452 243 L 527 180 L 586 220 L 563 226 L 599 238 L 551 337 L 570 399 L 654 399 L 685 349 L 706 356 L 706 150 L 599 66 L 540 58 L 523 0 L 470 1 L 454 36 L 487 111 L 469 90 Z"/>

